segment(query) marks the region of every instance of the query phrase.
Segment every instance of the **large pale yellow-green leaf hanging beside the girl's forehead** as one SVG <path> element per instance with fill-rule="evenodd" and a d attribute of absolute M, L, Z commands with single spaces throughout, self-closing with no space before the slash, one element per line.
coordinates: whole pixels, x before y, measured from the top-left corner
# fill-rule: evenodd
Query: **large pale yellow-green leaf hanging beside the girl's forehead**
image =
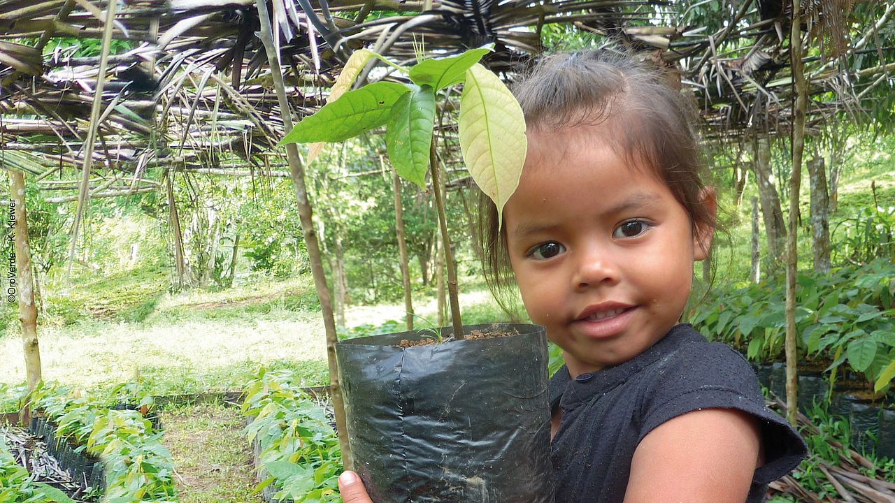
<path fill-rule="evenodd" d="M 500 222 L 504 205 L 519 186 L 528 140 L 519 102 L 481 64 L 466 71 L 458 130 L 469 174 L 494 201 Z"/>

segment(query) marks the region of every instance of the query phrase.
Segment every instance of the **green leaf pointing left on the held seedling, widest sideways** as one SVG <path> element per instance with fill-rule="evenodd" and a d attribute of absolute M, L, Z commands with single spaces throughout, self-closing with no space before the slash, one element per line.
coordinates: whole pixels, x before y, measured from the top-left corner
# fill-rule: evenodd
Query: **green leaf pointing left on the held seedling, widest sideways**
<path fill-rule="evenodd" d="M 410 88 L 396 82 L 379 81 L 350 90 L 314 115 L 295 124 L 279 145 L 312 141 L 345 141 L 388 121 L 391 108 Z"/>

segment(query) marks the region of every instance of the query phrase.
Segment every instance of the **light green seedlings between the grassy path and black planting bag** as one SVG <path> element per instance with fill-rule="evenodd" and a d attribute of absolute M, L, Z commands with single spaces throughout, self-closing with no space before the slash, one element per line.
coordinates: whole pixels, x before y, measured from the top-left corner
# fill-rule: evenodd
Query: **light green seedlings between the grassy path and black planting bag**
<path fill-rule="evenodd" d="M 320 405 L 303 396 L 287 372 L 261 368 L 245 391 L 243 412 L 251 423 L 245 433 L 258 441 L 260 464 L 276 499 L 294 503 L 336 503 L 342 459 L 335 432 Z"/>

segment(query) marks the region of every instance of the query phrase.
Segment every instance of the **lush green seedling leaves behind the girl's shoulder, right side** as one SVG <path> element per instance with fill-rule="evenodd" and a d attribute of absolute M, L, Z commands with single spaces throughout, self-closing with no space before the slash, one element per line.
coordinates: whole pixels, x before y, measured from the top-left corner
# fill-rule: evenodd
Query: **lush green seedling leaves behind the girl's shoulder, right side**
<path fill-rule="evenodd" d="M 895 265 L 886 259 L 849 265 L 829 275 L 799 275 L 796 324 L 801 358 L 831 362 L 828 370 L 848 360 L 876 388 L 887 386 L 895 374 L 893 296 Z M 745 350 L 750 359 L 773 360 L 786 331 L 783 297 L 781 284 L 716 289 L 692 322 L 703 334 Z"/>

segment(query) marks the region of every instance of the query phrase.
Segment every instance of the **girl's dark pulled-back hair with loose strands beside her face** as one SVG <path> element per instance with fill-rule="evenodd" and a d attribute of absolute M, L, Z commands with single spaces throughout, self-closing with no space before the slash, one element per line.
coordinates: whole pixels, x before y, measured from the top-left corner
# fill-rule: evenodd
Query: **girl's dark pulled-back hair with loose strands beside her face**
<path fill-rule="evenodd" d="M 668 70 L 613 49 L 545 55 L 516 81 L 513 93 L 529 131 L 610 123 L 599 128 L 601 138 L 632 166 L 639 161 L 654 170 L 686 209 L 694 233 L 715 226 L 700 198 L 708 170 L 695 132 L 695 103 L 676 89 Z M 484 193 L 479 208 L 485 281 L 501 307 L 514 314 L 506 230 Z"/>

